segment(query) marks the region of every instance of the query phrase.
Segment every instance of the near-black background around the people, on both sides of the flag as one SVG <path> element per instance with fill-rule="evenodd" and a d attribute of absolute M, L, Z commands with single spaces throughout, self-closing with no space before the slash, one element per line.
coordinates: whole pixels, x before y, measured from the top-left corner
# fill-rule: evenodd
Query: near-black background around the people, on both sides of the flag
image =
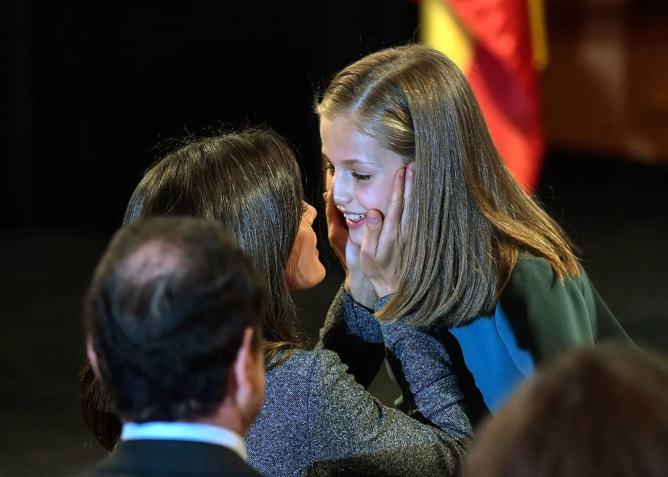
<path fill-rule="evenodd" d="M 71 475 L 104 455 L 78 413 L 81 296 L 157 145 L 268 124 L 295 147 L 318 205 L 315 91 L 360 56 L 415 39 L 418 10 L 12 0 L 1 17 L 0 476 Z M 665 352 L 667 180 L 659 165 L 549 144 L 538 193 L 629 333 Z M 295 297 L 311 336 L 341 280 L 325 242 L 327 279 Z M 372 390 L 385 403 L 395 394 L 385 375 Z"/>

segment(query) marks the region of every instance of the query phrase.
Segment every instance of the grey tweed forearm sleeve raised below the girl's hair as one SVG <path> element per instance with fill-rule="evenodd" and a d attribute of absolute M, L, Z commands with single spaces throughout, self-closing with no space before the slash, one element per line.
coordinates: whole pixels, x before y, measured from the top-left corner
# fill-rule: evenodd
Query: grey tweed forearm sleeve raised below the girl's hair
<path fill-rule="evenodd" d="M 377 300 L 377 312 L 391 295 Z M 427 421 L 457 438 L 472 436 L 464 394 L 446 348 L 426 330 L 406 324 L 412 315 L 380 322 L 387 359 L 401 387 L 408 415 Z"/>

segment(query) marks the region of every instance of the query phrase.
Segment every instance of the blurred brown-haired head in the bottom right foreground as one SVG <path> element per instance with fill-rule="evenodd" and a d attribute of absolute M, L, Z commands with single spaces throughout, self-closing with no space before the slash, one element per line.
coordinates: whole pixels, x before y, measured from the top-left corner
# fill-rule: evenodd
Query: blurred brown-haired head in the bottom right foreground
<path fill-rule="evenodd" d="M 668 475 L 668 361 L 637 348 L 571 351 L 482 427 L 471 477 Z"/>

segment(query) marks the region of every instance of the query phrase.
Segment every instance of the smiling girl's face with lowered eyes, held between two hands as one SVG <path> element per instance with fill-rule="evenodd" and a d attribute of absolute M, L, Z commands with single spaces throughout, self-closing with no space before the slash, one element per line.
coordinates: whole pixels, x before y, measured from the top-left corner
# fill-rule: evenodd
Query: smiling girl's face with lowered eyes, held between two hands
<path fill-rule="evenodd" d="M 337 209 L 345 217 L 350 239 L 361 245 L 369 209 L 385 214 L 395 173 L 403 167 L 401 155 L 357 130 L 349 116 L 321 118 L 320 138 L 327 191 L 333 191 Z"/>

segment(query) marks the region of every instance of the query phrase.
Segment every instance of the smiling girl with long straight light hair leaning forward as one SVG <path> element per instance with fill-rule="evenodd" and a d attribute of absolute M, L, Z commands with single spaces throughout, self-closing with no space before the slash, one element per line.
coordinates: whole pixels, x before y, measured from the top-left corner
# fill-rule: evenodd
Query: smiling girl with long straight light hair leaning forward
<path fill-rule="evenodd" d="M 335 76 L 316 110 L 329 236 L 347 272 L 320 346 L 337 351 L 361 384 L 383 359 L 381 335 L 371 312 L 362 320 L 341 305 L 371 308 L 388 292 L 375 316 L 414 313 L 413 323 L 446 345 L 474 422 L 536 364 L 577 345 L 629 339 L 564 231 L 506 169 L 468 81 L 444 54 L 415 44 L 366 56 Z M 398 272 L 382 286 L 362 272 L 359 253 L 397 170 L 411 162 Z M 371 351 L 350 349 L 351 335 Z"/>

